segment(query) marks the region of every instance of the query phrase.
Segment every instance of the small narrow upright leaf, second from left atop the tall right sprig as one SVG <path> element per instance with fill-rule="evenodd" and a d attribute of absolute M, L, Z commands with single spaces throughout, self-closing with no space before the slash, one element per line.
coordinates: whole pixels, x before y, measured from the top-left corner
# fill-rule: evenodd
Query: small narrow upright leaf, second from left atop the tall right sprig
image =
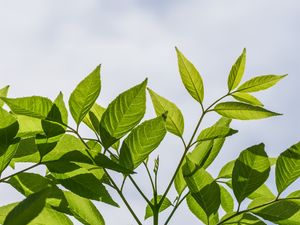
<path fill-rule="evenodd" d="M 244 48 L 242 54 L 238 57 L 236 62 L 231 67 L 229 76 L 228 76 L 228 91 L 235 89 L 242 80 L 245 71 L 246 64 L 246 49 Z"/>

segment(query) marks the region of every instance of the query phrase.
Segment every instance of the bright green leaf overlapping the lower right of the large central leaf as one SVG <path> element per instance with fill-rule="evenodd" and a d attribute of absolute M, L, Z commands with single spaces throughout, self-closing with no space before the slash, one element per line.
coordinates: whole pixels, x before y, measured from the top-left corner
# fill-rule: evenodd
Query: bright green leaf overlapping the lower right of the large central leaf
<path fill-rule="evenodd" d="M 163 116 L 143 122 L 123 141 L 120 164 L 130 170 L 135 169 L 158 147 L 165 135 L 166 125 Z"/>

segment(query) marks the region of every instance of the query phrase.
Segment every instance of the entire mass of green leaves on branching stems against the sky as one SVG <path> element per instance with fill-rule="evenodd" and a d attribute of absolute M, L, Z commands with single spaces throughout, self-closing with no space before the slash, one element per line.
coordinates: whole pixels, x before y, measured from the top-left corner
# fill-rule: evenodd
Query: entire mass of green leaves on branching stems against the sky
<path fill-rule="evenodd" d="M 69 98 L 74 128 L 69 125 L 62 93 L 52 101 L 41 96 L 8 98 L 9 86 L 0 89 L 0 175 L 8 166 L 30 163 L 0 178 L 1 183 L 11 185 L 25 197 L 0 207 L 0 223 L 69 225 L 72 216 L 83 224 L 105 224 L 105 216 L 92 200 L 118 207 L 111 197 L 115 191 L 136 223 L 142 224 L 141 216 L 136 215 L 123 192 L 128 179 L 145 200 L 144 219 L 152 219 L 154 225 L 163 211 L 169 213 L 164 221 L 168 224 L 185 201 L 204 224 L 300 224 L 300 190 L 282 196 L 300 176 L 300 142 L 277 159 L 268 157 L 263 143 L 256 144 L 224 165 L 217 177 L 207 171 L 225 140 L 238 132 L 230 126 L 232 119 L 280 115 L 263 108 L 252 93 L 272 87 L 286 75 L 257 76 L 240 84 L 246 64 L 244 49 L 230 70 L 227 93 L 205 107 L 200 73 L 177 48 L 176 52 L 183 85 L 201 109 L 188 139 L 183 137 L 181 110 L 147 87 L 147 79 L 119 94 L 106 108 L 96 103 L 101 90 L 100 66 L 78 84 Z M 147 90 L 156 116 L 142 122 Z M 227 97 L 236 101 L 225 101 Z M 200 131 L 204 117 L 211 112 L 221 118 Z M 82 136 L 82 124 L 95 138 Z M 180 138 L 183 151 L 168 186 L 161 190 L 157 184 L 159 158 L 153 171 L 148 160 L 168 132 Z M 277 193 L 265 184 L 273 165 Z M 39 166 L 46 166 L 45 175 L 28 172 Z M 140 166 L 145 167 L 149 178 L 150 197 L 135 181 Z M 123 180 L 122 184 L 116 177 Z M 178 193 L 173 200 L 171 188 Z"/>

